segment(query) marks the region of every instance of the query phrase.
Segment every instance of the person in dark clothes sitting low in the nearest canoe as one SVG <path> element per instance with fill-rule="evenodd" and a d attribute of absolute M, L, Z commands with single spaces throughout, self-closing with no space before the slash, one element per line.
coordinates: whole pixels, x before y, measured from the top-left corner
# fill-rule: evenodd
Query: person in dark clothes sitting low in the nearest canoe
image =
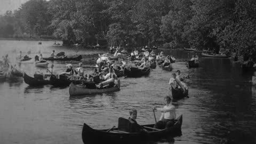
<path fill-rule="evenodd" d="M 137 110 L 136 109 L 131 109 L 129 111 L 130 117 L 128 120 L 130 123 L 132 123 L 134 126 L 130 127 L 130 132 L 148 132 L 146 129 L 144 129 L 141 125 L 139 125 L 136 121 L 137 118 Z"/>

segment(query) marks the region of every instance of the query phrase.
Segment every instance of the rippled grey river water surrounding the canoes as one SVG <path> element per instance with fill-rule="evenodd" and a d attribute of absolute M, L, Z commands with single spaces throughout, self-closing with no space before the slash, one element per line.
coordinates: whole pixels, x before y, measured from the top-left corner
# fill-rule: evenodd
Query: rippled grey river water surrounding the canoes
<path fill-rule="evenodd" d="M 0 41 L 0 56 L 8 53 L 14 64 L 19 51 L 23 54 L 30 51 L 32 58 L 39 51 L 44 57 L 52 50 L 65 51 L 66 55 L 82 54 L 86 72 L 91 73 L 98 53 L 106 52 L 52 46 L 53 43 Z M 182 135 L 175 137 L 174 143 L 221 143 L 232 131 L 251 135 L 249 138 L 236 137 L 235 142 L 255 143 L 256 86 L 250 83 L 251 75 L 242 73 L 239 64 L 230 59 L 201 58 L 199 68 L 188 69 L 187 53 L 183 50 L 171 52 L 177 58 L 173 71 L 179 69 L 182 74 L 190 75 L 186 79 L 189 98 L 173 101 L 177 116 L 183 115 Z M 69 63 L 75 67 L 78 64 Z M 33 63 L 16 64 L 28 75 L 35 71 L 46 72 Z M 64 71 L 67 64 L 54 61 L 55 73 Z M 118 117 L 128 118 L 131 108 L 138 110 L 139 124 L 154 123 L 151 108 L 163 106 L 171 74 L 157 67 L 148 77 L 121 78 L 121 91 L 86 97 L 69 97 L 68 87 L 30 87 L 23 78 L 0 82 L 1 143 L 83 143 L 83 123 L 95 129 L 108 129 L 117 126 Z M 157 111 L 156 117 L 160 115 Z"/>

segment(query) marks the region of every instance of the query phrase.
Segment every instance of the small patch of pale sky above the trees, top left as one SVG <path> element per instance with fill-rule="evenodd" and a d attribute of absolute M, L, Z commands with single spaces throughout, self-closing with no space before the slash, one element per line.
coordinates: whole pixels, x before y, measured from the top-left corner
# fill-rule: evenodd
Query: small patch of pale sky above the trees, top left
<path fill-rule="evenodd" d="M 0 0 L 0 14 L 4 14 L 6 11 L 9 10 L 17 10 L 21 4 L 27 1 L 29 0 Z"/>

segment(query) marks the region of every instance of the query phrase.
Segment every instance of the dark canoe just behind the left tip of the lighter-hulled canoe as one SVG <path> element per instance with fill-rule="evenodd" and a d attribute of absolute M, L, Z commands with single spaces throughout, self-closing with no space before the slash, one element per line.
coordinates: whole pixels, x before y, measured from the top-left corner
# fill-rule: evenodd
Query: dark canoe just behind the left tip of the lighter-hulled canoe
<path fill-rule="evenodd" d="M 71 81 L 70 79 L 67 78 L 66 75 L 60 75 L 60 78 L 57 78 L 54 75 L 51 75 L 50 77 L 50 83 L 55 87 L 69 86 L 71 82 L 74 82 L 75 84 L 80 83 L 79 80 Z"/>

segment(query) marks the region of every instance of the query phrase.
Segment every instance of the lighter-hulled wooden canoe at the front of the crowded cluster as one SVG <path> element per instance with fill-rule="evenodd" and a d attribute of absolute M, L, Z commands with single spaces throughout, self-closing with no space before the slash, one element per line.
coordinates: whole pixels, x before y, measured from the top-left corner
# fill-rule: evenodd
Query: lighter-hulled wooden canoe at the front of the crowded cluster
<path fill-rule="evenodd" d="M 97 93 L 107 93 L 107 92 L 115 92 L 120 90 L 120 81 L 118 80 L 118 84 L 109 89 L 85 89 L 83 87 L 79 87 L 74 83 L 71 83 L 69 86 L 69 95 L 87 95 L 87 94 L 97 94 Z"/>

